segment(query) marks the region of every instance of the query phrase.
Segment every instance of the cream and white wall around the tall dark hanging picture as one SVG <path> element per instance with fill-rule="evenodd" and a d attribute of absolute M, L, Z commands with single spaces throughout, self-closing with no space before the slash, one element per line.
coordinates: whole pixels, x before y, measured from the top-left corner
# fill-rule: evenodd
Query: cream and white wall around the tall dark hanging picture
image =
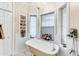
<path fill-rule="evenodd" d="M 27 25 L 27 16 L 28 16 L 28 8 L 27 4 L 16 2 L 15 3 L 15 30 L 14 30 L 14 54 L 19 54 L 22 52 L 25 48 L 25 42 L 27 39 L 28 34 L 28 25 Z M 20 15 L 26 16 L 26 37 L 22 38 L 20 36 Z"/>

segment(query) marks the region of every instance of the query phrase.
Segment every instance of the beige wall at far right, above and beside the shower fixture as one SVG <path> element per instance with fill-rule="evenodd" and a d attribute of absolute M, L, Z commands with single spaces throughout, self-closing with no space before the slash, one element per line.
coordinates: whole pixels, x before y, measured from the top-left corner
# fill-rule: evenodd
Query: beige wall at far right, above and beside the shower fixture
<path fill-rule="evenodd" d="M 70 28 L 76 28 L 78 30 L 78 47 L 79 47 L 79 3 L 70 3 Z M 79 52 L 79 48 L 78 48 Z"/>

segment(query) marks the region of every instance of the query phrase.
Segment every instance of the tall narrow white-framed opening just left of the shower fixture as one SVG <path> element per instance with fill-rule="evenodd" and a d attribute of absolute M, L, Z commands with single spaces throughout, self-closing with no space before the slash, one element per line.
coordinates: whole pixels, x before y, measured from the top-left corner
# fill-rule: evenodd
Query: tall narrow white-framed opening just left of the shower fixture
<path fill-rule="evenodd" d="M 67 36 L 70 29 L 69 19 L 69 3 L 62 5 L 59 8 L 59 20 L 61 21 L 60 35 L 61 35 L 61 55 L 69 55 L 69 51 L 72 48 L 72 40 Z"/>

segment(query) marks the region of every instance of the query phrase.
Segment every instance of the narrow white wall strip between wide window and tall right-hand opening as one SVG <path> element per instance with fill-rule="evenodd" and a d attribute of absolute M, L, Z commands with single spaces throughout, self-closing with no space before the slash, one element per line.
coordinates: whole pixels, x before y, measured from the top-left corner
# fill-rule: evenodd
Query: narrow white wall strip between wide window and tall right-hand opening
<path fill-rule="evenodd" d="M 57 12 L 57 37 L 55 39 L 56 43 L 60 46 L 60 52 L 59 55 L 66 55 L 67 49 L 63 47 L 61 44 L 61 14 L 60 14 L 60 8 L 64 5 L 63 2 L 56 3 L 56 12 Z"/>

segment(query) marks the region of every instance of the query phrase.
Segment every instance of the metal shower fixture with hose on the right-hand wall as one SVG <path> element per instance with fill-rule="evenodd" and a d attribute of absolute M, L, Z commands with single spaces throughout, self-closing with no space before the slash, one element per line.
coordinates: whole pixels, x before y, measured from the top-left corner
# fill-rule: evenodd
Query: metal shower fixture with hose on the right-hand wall
<path fill-rule="evenodd" d="M 69 54 L 74 53 L 76 56 L 78 56 L 78 45 L 77 45 L 78 30 L 75 28 L 71 28 L 68 36 L 73 39 L 73 48 L 74 48 L 71 49 Z"/>

